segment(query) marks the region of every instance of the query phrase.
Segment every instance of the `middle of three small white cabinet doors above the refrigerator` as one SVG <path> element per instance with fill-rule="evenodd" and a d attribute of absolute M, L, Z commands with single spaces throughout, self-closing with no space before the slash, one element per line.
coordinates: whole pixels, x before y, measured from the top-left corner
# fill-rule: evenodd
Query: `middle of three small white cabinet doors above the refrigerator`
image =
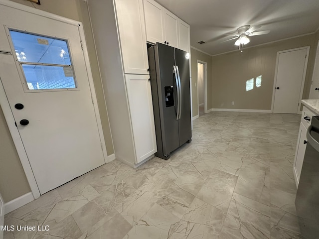
<path fill-rule="evenodd" d="M 164 8 L 164 41 L 169 46 L 179 48 L 178 44 L 178 17 Z"/>

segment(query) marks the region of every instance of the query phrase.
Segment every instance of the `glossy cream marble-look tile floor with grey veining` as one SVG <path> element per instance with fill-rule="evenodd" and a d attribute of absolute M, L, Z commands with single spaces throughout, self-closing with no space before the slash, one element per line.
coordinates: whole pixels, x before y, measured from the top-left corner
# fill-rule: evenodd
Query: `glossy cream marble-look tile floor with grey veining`
<path fill-rule="evenodd" d="M 137 169 L 105 164 L 7 214 L 4 239 L 299 239 L 300 115 L 211 112 L 192 142 Z"/>

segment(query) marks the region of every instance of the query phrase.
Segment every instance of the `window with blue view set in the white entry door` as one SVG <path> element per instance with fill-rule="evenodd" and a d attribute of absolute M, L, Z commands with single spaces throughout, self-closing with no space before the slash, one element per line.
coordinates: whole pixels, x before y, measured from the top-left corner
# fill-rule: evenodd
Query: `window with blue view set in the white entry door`
<path fill-rule="evenodd" d="M 9 31 L 29 90 L 76 88 L 67 41 Z"/>

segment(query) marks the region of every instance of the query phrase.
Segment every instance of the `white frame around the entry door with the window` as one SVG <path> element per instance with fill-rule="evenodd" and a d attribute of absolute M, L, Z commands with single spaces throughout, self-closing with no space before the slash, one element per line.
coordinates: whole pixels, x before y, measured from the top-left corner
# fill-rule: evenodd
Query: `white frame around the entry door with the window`
<path fill-rule="evenodd" d="M 16 8 L 16 9 L 28 12 L 30 14 L 44 16 L 44 17 L 47 17 L 47 18 L 50 18 L 53 20 L 58 20 L 58 21 L 61 21 L 63 23 L 71 24 L 71 25 L 78 27 L 80 39 L 82 41 L 82 46 L 83 46 L 83 56 L 84 56 L 84 61 L 85 61 L 86 70 L 87 70 L 87 76 L 88 76 L 88 80 L 89 80 L 89 87 L 90 87 L 90 92 L 91 92 L 91 96 L 92 96 L 92 103 L 93 103 L 95 118 L 96 118 L 96 122 L 97 122 L 97 126 L 98 126 L 99 137 L 100 137 L 100 141 L 101 141 L 103 158 L 104 158 L 104 162 L 106 163 L 108 154 L 107 154 L 107 150 L 105 147 L 104 134 L 103 134 L 103 130 L 102 130 L 102 122 L 101 122 L 101 118 L 100 118 L 99 108 L 97 105 L 97 97 L 95 94 L 93 76 L 92 76 L 91 66 L 89 63 L 90 62 L 89 55 L 88 55 L 88 50 L 87 50 L 87 46 L 86 46 L 86 40 L 85 40 L 82 22 L 75 21 L 75 20 L 72 20 L 72 19 L 69 19 L 66 17 L 62 17 L 59 15 L 55 15 L 53 13 L 42 11 L 42 10 L 32 8 L 29 6 L 25 6 L 25 5 L 22 5 L 20 3 L 16 3 L 13 1 L 9 1 L 9 0 L 0 0 L 0 5 L 5 5 L 8 7 Z M 9 128 L 14 146 L 16 148 L 17 154 L 18 154 L 19 159 L 21 161 L 22 168 L 24 170 L 26 179 L 30 185 L 30 189 L 31 189 L 33 198 L 37 199 L 40 197 L 40 191 L 39 191 L 39 188 L 36 184 L 36 180 L 35 180 L 35 177 L 33 175 L 32 168 L 31 168 L 31 165 L 29 163 L 27 154 L 25 152 L 19 131 L 18 131 L 17 127 L 14 125 L 15 120 L 13 118 L 13 114 L 12 114 L 8 99 L 6 97 L 1 79 L 0 79 L 0 107 L 3 111 L 5 121 L 7 123 L 8 128 Z"/>

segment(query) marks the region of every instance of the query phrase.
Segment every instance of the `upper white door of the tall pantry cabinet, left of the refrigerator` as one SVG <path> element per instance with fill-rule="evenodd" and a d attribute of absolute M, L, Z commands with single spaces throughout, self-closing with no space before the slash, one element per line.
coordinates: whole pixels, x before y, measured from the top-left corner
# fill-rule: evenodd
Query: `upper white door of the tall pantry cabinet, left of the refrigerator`
<path fill-rule="evenodd" d="M 124 72 L 148 74 L 143 2 L 142 0 L 115 0 L 115 5 Z"/>

